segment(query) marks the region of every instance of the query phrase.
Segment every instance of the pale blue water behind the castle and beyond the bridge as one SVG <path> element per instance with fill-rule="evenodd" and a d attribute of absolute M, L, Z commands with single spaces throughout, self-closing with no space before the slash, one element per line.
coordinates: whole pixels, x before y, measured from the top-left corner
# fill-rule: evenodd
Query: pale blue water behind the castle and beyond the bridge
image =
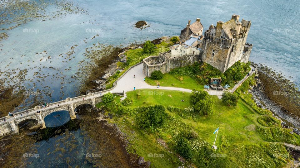
<path fill-rule="evenodd" d="M 41 99 L 46 102 L 78 94 L 80 81 L 71 76 L 77 75 L 80 61 L 86 61 L 81 65 L 90 61 L 83 53 L 93 44 L 126 46 L 161 36 L 178 36 L 187 20 L 193 22 L 196 18 L 201 18 L 206 30 L 211 23 L 215 25 L 219 20 L 231 19 L 232 14 L 239 14 L 240 20 L 244 18 L 252 22 L 247 39 L 253 44 L 250 60 L 281 71 L 288 79 L 300 83 L 300 2 L 297 0 L 73 2 L 87 10 L 88 15 L 67 14 L 59 19 L 35 20 L 9 31 L 0 31 L 9 35 L 0 46 L 0 71 L 27 69 L 25 79 L 32 81 L 25 80 L 23 85 L 34 91 L 41 89 L 44 95 Z M 46 11 L 55 11 L 55 7 L 50 6 Z M 146 20 L 151 26 L 143 30 L 133 28 L 139 20 Z M 38 32 L 23 32 L 24 29 Z M 92 39 L 96 34 L 99 36 Z M 66 59 L 59 55 L 71 51 L 70 47 L 74 45 L 78 46 L 70 56 L 71 60 L 62 62 Z M 36 55 L 44 50 L 47 51 L 46 57 Z M 47 59 L 48 56 L 51 58 Z M 34 72 L 39 71 L 42 71 L 41 79 L 34 77 Z M 63 79 L 66 83 L 61 83 Z"/>

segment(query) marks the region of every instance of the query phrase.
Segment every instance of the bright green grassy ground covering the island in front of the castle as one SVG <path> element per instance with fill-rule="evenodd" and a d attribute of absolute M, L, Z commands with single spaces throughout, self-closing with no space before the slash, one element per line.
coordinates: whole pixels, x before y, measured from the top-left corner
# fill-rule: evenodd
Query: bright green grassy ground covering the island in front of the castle
<path fill-rule="evenodd" d="M 173 82 L 168 82 L 166 80 L 167 78 Z M 178 167 L 181 165 L 175 155 L 176 152 L 173 146 L 176 136 L 183 130 L 197 132 L 197 140 L 206 142 L 206 147 L 211 150 L 216 136 L 213 134 L 213 131 L 217 127 L 220 127 L 216 140 L 218 149 L 217 151 L 211 150 L 204 153 L 222 153 L 226 154 L 227 157 L 222 158 L 223 160 L 211 158 L 210 156 L 206 159 L 204 157 L 203 159 L 201 155 L 202 158 L 199 159 L 200 153 L 197 153 L 193 156 L 194 158 L 192 160 L 187 161 L 187 165 L 195 164 L 197 167 L 203 167 L 204 165 L 214 167 L 213 165 L 221 161 L 224 163 L 223 165 L 227 164 L 227 166 L 230 165 L 232 167 L 282 167 L 287 163 L 288 157 L 282 158 L 277 156 L 288 156 L 287 151 L 282 144 L 273 142 L 288 142 L 298 145 L 300 138 L 298 135 L 290 135 L 288 133 L 290 130 L 281 128 L 277 119 L 269 116 L 269 111 L 258 108 L 255 105 L 251 99 L 251 94 L 247 92 L 248 87 L 245 86 L 252 84 L 252 79 L 253 78 L 247 79 L 237 90 L 237 93 L 235 93 L 240 97 L 236 107 L 229 107 L 222 103 L 222 100 L 218 99 L 217 96 L 212 96 L 214 100 L 213 114 L 209 116 L 198 116 L 197 120 L 190 117 L 182 118 L 178 113 L 167 110 L 169 114 L 167 121 L 164 122 L 161 127 L 152 131 L 136 127 L 134 124 L 134 114 L 115 116 L 110 122 L 116 123 L 121 131 L 128 136 L 130 146 L 128 146 L 127 150 L 139 156 L 143 156 L 146 161 L 151 161 L 154 167 Z M 182 81 L 189 81 L 187 85 L 185 85 L 185 88 L 192 89 L 192 86 L 196 83 L 195 80 L 192 80 L 191 78 L 183 77 Z M 157 81 L 146 79 L 146 82 L 153 84 Z M 159 80 L 159 82 L 161 82 L 161 86 L 170 86 L 168 85 L 170 83 L 175 83 L 174 85 L 181 84 L 180 80 L 169 74 L 166 74 L 165 78 Z M 193 84 L 189 85 L 190 82 Z M 245 92 L 245 94 L 243 92 Z M 133 99 L 133 104 L 128 106 L 132 109 L 155 104 L 161 104 L 166 107 L 166 109 L 168 106 L 181 109 L 192 106 L 190 94 L 181 91 L 138 89 L 127 92 L 126 94 L 128 98 Z M 182 102 L 181 100 L 185 101 Z M 268 116 L 270 118 L 268 118 Z M 264 125 L 268 125 L 269 127 Z M 160 145 L 158 139 L 162 139 L 166 142 L 168 149 Z M 189 141 L 190 143 L 194 142 L 193 140 Z M 278 150 L 274 150 L 271 146 L 272 144 L 276 144 Z M 148 157 L 149 153 L 163 154 L 164 157 Z"/>

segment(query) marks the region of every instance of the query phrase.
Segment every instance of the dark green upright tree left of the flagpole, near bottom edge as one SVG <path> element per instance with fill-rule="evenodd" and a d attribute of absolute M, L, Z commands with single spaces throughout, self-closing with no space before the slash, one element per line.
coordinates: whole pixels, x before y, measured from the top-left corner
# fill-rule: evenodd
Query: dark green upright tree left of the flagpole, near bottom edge
<path fill-rule="evenodd" d="M 192 158 L 192 148 L 190 143 L 187 141 L 185 137 L 180 136 L 177 140 L 176 144 L 177 152 L 183 156 L 184 158 L 190 159 Z"/>

